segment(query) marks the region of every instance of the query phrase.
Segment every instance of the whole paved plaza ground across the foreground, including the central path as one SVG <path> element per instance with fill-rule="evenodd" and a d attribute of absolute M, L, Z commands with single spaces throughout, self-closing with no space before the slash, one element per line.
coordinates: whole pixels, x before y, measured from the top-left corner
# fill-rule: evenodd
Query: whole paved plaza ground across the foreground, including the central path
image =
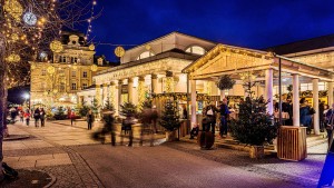
<path fill-rule="evenodd" d="M 189 142 L 155 147 L 101 145 L 91 139 L 98 129 L 86 122 L 47 122 L 43 128 L 9 126 L 11 135 L 29 139 L 3 142 L 4 161 L 17 169 L 45 170 L 57 178 L 52 187 L 315 187 L 325 155 L 301 162 L 273 157 L 249 159 L 245 151 L 200 150 Z M 136 136 L 135 136 L 136 137 Z"/>

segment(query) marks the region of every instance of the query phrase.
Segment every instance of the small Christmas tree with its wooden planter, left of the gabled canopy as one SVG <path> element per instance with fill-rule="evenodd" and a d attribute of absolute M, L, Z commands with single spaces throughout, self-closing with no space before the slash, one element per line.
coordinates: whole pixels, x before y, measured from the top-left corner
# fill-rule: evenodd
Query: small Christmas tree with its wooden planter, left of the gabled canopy
<path fill-rule="evenodd" d="M 180 121 L 176 103 L 173 100 L 167 99 L 159 122 L 166 129 L 166 141 L 177 140 L 176 130 L 179 128 Z"/>

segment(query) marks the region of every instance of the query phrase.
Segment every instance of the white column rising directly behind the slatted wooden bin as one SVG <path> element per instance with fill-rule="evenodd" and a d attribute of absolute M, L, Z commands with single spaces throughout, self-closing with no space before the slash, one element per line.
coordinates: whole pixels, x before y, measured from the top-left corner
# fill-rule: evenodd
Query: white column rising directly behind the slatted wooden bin
<path fill-rule="evenodd" d="M 293 125 L 299 127 L 299 76 L 293 75 Z"/>

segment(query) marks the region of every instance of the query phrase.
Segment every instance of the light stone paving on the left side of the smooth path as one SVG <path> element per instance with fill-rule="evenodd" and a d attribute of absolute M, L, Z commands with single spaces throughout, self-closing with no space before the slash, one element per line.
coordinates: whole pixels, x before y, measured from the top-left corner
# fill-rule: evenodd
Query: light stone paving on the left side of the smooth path
<path fill-rule="evenodd" d="M 57 178 L 52 187 L 105 187 L 85 159 L 68 147 L 69 144 L 99 144 L 90 139 L 89 132 L 79 131 L 77 128 L 67 129 L 50 122 L 43 128 L 17 123 L 10 126 L 9 131 L 33 136 L 26 140 L 3 142 L 4 161 L 11 167 L 45 170 Z M 57 159 L 57 156 L 62 156 L 62 159 Z"/>

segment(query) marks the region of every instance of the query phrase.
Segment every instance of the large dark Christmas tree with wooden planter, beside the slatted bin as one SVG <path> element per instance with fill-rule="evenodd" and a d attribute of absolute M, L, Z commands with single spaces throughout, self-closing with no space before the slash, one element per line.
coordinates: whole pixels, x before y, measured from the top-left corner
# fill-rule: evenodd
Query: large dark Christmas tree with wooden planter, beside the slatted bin
<path fill-rule="evenodd" d="M 262 96 L 253 98 L 250 91 L 248 93 L 249 97 L 239 103 L 238 119 L 232 120 L 229 127 L 235 139 L 250 145 L 250 158 L 262 158 L 264 144 L 277 137 L 277 125 L 274 125 L 273 116 L 267 113 L 268 101 Z"/>

